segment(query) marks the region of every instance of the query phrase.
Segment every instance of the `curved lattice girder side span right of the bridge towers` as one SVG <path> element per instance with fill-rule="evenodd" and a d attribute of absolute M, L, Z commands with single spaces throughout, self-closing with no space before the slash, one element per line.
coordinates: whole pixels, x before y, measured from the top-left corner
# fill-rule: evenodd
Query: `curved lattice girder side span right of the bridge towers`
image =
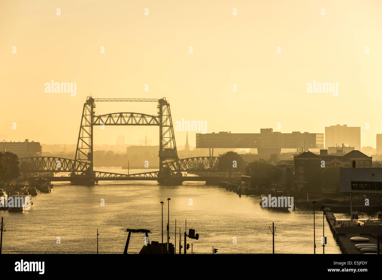
<path fill-rule="evenodd" d="M 218 171 L 219 157 L 189 157 L 163 163 L 163 168 L 176 171 Z"/>

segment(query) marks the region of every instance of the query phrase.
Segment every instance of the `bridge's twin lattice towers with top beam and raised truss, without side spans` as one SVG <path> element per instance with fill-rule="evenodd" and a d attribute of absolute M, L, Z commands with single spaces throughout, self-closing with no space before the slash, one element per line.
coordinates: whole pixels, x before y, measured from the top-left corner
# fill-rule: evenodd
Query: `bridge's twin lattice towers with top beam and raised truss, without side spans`
<path fill-rule="evenodd" d="M 158 115 L 137 113 L 114 113 L 95 115 L 95 102 L 99 101 L 138 101 L 158 102 Z M 104 120 L 105 118 L 105 120 Z M 88 97 L 84 103 L 81 125 L 79 127 L 76 155 L 71 170 L 71 176 L 80 181 L 89 180 L 90 184 L 95 179 L 93 170 L 93 126 L 94 125 L 157 125 L 159 126 L 159 173 L 158 178 L 181 176 L 178 152 L 176 150 L 174 128 L 171 118 L 170 104 L 166 98 L 161 99 L 118 99 Z M 166 163 L 172 162 L 172 168 Z M 87 163 L 87 165 L 84 165 Z M 87 168 L 84 168 L 87 166 Z M 166 167 L 167 166 L 167 167 Z"/>

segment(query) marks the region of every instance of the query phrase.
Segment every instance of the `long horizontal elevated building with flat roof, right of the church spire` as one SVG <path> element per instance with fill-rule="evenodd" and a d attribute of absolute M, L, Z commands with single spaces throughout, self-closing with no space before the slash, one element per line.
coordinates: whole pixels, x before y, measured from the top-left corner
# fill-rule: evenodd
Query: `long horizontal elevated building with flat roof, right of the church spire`
<path fill-rule="evenodd" d="M 323 133 L 293 131 L 274 132 L 272 128 L 261 128 L 260 133 L 197 133 L 197 148 L 256 148 L 259 155 L 281 154 L 281 149 L 320 149 L 324 148 Z"/>

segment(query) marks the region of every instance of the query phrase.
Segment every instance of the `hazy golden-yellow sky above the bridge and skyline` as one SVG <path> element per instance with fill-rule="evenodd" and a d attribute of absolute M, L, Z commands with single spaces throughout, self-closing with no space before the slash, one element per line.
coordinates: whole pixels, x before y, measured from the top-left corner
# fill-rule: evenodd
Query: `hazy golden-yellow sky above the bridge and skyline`
<path fill-rule="evenodd" d="M 277 131 L 277 123 L 284 133 L 361 126 L 361 146 L 375 147 L 382 133 L 381 11 L 380 0 L 2 0 L 0 134 L 74 144 L 91 93 L 166 97 L 174 123 L 207 121 L 208 133 Z M 76 82 L 76 96 L 45 93 L 51 80 Z M 338 83 L 338 96 L 307 93 L 313 80 Z M 96 105 L 96 114 L 157 114 L 156 103 Z M 158 144 L 157 127 L 95 127 L 94 144 L 115 144 L 118 135 L 138 143 L 146 133 Z M 191 146 L 195 133 L 188 133 Z M 175 136 L 184 145 L 186 131 Z"/>

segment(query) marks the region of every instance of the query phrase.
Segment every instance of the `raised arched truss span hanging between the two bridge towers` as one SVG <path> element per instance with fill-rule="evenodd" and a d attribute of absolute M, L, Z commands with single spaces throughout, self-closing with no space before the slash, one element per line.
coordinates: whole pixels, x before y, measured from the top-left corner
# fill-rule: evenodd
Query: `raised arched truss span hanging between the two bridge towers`
<path fill-rule="evenodd" d="M 95 115 L 93 125 L 156 125 L 159 126 L 159 116 L 141 113 L 111 113 Z"/>

